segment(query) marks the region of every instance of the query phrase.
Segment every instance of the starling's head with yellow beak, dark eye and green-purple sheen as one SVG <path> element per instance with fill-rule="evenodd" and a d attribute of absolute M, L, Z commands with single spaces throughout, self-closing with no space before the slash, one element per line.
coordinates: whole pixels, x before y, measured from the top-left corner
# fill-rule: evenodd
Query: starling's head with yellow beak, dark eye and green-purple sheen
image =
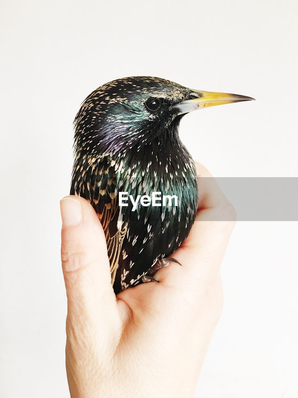
<path fill-rule="evenodd" d="M 75 118 L 75 148 L 80 154 L 124 154 L 157 139 L 178 140 L 186 113 L 253 98 L 192 90 L 156 77 L 114 80 L 93 91 Z"/>

